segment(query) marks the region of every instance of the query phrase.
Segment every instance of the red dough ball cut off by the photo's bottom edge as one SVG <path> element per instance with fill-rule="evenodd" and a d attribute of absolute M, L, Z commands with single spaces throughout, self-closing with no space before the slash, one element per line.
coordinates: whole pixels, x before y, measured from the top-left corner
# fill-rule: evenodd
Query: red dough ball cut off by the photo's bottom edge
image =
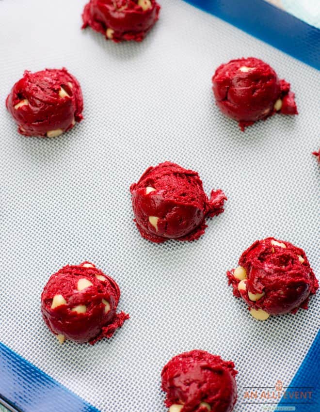
<path fill-rule="evenodd" d="M 231 412 L 237 400 L 234 366 L 204 350 L 172 358 L 161 372 L 168 412 Z"/>

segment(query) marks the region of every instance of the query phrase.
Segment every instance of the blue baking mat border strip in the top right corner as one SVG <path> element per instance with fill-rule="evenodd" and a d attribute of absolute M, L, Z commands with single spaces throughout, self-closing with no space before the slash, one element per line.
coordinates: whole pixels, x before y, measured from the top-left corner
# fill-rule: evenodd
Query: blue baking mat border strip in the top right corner
<path fill-rule="evenodd" d="M 320 30 L 272 4 L 264 0 L 184 1 L 320 70 Z"/>

